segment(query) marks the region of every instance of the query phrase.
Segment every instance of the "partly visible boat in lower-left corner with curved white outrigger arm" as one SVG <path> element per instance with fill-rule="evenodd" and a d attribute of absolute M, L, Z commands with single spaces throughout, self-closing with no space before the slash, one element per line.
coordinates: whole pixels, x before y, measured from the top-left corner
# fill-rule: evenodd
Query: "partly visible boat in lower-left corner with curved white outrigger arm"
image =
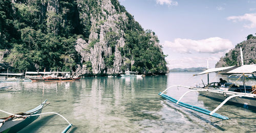
<path fill-rule="evenodd" d="M 11 115 L 9 117 L 0 118 L 0 132 L 5 132 L 5 133 L 17 132 L 23 129 L 24 127 L 28 126 L 33 121 L 35 121 L 39 117 L 39 115 L 44 115 L 44 114 L 59 115 L 58 113 L 54 113 L 54 112 L 41 113 L 42 109 L 49 104 L 49 102 L 46 102 L 46 101 L 47 100 L 39 104 L 36 108 L 29 110 L 25 113 L 11 114 L 11 113 L 0 110 L 1 112 Z M 69 123 L 69 125 L 62 131 L 63 133 L 65 133 L 72 127 L 72 124 L 63 116 L 61 117 Z"/>

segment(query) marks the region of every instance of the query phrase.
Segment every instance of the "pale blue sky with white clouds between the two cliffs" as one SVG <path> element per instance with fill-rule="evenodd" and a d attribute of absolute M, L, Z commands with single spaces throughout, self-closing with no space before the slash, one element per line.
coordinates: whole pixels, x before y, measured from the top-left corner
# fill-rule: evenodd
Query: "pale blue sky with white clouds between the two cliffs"
<path fill-rule="evenodd" d="M 256 0 L 119 0 L 144 30 L 156 33 L 167 66 L 207 67 L 249 34 L 256 36 Z"/>

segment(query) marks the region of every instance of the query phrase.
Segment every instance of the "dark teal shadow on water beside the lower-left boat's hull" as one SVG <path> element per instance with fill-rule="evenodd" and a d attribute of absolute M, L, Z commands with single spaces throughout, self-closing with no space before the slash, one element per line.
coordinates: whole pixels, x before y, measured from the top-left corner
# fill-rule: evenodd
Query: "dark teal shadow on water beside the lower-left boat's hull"
<path fill-rule="evenodd" d="M 36 121 L 32 122 L 31 124 L 29 124 L 28 126 L 26 126 L 25 128 L 23 128 L 22 130 L 20 130 L 19 132 L 37 132 L 37 130 L 44 126 L 45 124 L 48 123 L 48 121 L 53 118 L 54 115 L 50 115 L 50 116 L 42 116 L 42 118 L 38 118 Z"/>

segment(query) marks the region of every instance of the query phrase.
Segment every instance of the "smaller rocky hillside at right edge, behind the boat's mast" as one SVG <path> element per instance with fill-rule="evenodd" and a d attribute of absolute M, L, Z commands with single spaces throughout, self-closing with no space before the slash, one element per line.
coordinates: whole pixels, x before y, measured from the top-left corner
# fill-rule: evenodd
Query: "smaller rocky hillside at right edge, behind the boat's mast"
<path fill-rule="evenodd" d="M 240 47 L 243 51 L 244 64 L 256 64 L 256 39 L 249 39 L 236 45 L 216 64 L 216 67 L 241 65 Z"/>

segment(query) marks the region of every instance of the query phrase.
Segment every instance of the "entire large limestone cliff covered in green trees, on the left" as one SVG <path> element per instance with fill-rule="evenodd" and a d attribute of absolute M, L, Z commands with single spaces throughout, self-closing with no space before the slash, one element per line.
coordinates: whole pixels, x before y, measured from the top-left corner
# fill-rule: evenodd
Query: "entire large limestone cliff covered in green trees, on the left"
<path fill-rule="evenodd" d="M 76 49 L 78 40 L 86 48 Z M 158 43 L 116 0 L 0 0 L 0 49 L 16 71 L 165 73 Z"/>

